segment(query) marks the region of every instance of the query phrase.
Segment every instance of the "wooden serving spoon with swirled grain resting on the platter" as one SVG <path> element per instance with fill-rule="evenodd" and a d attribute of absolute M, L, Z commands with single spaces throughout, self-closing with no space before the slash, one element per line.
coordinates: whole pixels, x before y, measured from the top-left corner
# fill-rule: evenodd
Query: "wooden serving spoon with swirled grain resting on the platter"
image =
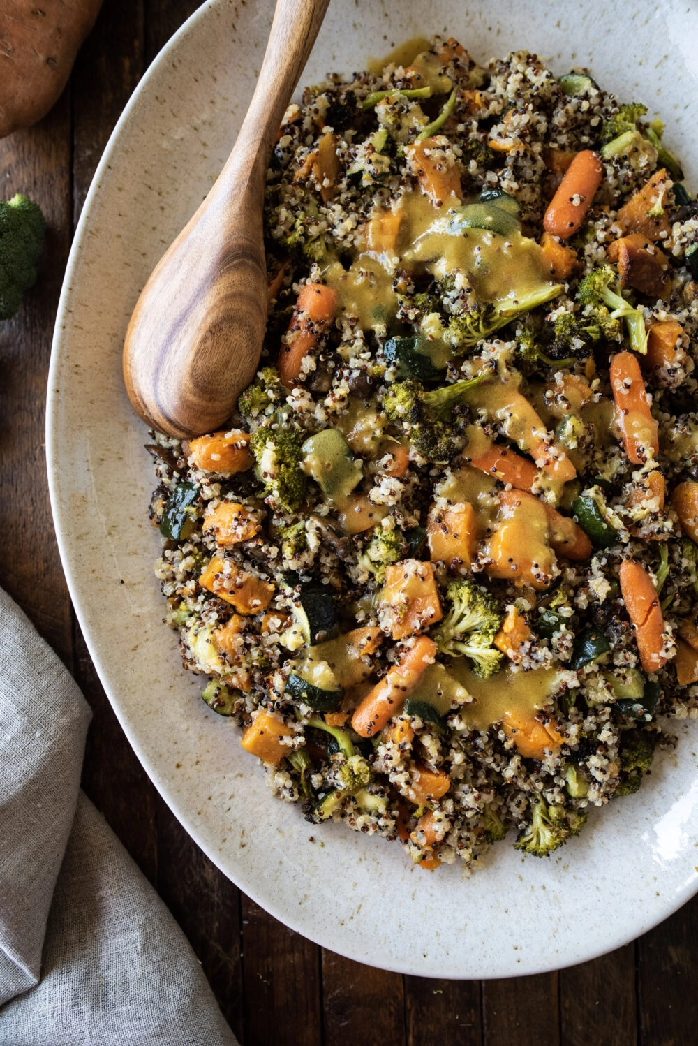
<path fill-rule="evenodd" d="M 266 325 L 266 169 L 328 3 L 277 0 L 233 151 L 136 303 L 123 377 L 136 411 L 159 432 L 186 437 L 216 429 L 257 370 Z"/>

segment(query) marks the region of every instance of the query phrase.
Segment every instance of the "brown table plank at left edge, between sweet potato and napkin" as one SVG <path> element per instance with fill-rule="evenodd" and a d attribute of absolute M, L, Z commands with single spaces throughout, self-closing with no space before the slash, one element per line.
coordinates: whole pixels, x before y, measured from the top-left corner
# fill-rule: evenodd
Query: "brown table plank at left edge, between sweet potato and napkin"
<path fill-rule="evenodd" d="M 48 223 L 37 285 L 17 316 L 0 322 L 0 585 L 70 665 L 70 601 L 44 454 L 51 337 L 70 243 L 67 93 L 41 123 L 0 140 L 0 198 L 23 192 L 36 200 Z"/>

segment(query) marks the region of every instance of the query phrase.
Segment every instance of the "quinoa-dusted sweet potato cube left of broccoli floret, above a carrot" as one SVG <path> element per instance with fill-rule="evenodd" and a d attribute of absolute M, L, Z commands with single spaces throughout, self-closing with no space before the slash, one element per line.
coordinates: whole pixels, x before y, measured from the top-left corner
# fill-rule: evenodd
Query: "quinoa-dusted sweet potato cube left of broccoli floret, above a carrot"
<path fill-rule="evenodd" d="M 393 639 L 405 639 L 443 617 L 434 567 L 419 560 L 402 560 L 386 568 L 379 604 L 390 608 Z"/>

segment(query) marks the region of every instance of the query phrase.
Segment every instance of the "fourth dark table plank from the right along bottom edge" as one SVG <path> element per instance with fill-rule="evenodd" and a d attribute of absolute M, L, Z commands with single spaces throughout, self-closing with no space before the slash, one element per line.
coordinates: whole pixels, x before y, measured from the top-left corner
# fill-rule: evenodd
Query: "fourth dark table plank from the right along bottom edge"
<path fill-rule="evenodd" d="M 404 978 L 408 1046 L 481 1046 L 482 1011 L 479 981 Z"/>

